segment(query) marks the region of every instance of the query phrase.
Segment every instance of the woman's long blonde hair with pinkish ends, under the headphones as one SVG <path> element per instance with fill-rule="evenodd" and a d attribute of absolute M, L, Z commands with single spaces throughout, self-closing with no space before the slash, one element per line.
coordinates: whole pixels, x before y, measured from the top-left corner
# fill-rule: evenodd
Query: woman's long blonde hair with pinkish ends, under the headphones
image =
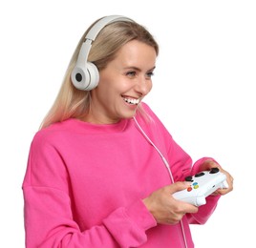
<path fill-rule="evenodd" d="M 85 31 L 78 42 L 59 93 L 49 113 L 43 119 L 40 129 L 71 117 L 80 118 L 86 113 L 86 110 L 90 108 L 91 93 L 75 89 L 71 81 L 71 72 L 75 67 L 75 62 L 82 43 L 85 40 L 85 36 L 94 24 Z M 115 59 L 118 50 L 131 40 L 139 40 L 153 47 L 157 55 L 159 54 L 158 43 L 149 31 L 136 22 L 118 21 L 108 24 L 98 33 L 89 53 L 88 61 L 93 62 L 100 72 L 110 61 Z M 141 109 L 139 111 L 141 111 Z"/>

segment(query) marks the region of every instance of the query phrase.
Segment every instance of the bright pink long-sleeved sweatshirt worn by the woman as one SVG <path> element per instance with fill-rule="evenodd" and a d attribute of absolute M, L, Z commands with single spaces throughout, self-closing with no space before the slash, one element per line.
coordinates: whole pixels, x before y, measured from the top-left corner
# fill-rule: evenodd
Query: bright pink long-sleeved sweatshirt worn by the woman
<path fill-rule="evenodd" d="M 200 171 L 159 118 L 137 116 L 143 131 L 168 160 L 175 181 Z M 208 159 L 208 158 L 207 158 Z M 160 155 L 134 119 L 95 125 L 77 119 L 55 123 L 34 135 L 23 182 L 26 247 L 185 247 L 181 223 L 157 224 L 141 199 L 170 184 Z M 189 224 L 203 224 L 219 196 L 208 196 L 195 215 L 182 219 L 189 248 Z"/>

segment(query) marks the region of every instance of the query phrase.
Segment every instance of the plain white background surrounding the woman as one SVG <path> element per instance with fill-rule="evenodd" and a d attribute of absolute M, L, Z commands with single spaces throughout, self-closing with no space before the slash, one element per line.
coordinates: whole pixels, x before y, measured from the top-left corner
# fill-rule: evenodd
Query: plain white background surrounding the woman
<path fill-rule="evenodd" d="M 82 33 L 108 14 L 129 16 L 160 44 L 145 101 L 196 160 L 232 176 L 197 248 L 252 247 L 255 225 L 255 1 L 9 0 L 0 4 L 0 247 L 25 247 L 21 184 L 33 134 L 58 92 Z"/>

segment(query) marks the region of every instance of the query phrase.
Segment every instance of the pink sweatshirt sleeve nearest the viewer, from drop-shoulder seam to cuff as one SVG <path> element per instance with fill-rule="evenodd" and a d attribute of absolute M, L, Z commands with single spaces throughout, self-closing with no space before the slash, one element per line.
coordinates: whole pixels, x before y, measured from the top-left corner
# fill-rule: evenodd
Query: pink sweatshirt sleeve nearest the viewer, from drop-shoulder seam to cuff
<path fill-rule="evenodd" d="M 27 248 L 138 247 L 147 240 L 145 231 L 157 225 L 139 200 L 128 208 L 118 208 L 101 225 L 80 230 L 65 193 L 26 186 L 24 196 Z"/>

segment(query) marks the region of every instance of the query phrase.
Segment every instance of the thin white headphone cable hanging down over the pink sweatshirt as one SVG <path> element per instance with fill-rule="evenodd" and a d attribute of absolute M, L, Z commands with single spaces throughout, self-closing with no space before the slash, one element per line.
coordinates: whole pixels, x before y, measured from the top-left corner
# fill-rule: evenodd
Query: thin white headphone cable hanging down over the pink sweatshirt
<path fill-rule="evenodd" d="M 139 125 L 139 122 L 137 121 L 136 117 L 134 116 L 133 117 L 134 120 L 135 120 L 135 123 L 136 125 L 138 126 L 139 128 L 139 131 L 141 134 L 143 134 L 143 136 L 147 139 L 147 141 L 156 149 L 156 151 L 159 153 L 167 171 L 168 171 L 168 174 L 171 178 L 171 182 L 174 183 L 174 178 L 173 178 L 173 175 L 172 175 L 172 171 L 171 171 L 171 168 L 170 168 L 170 165 L 169 163 L 167 162 L 166 158 L 161 154 L 160 150 L 158 149 L 158 147 L 153 143 L 153 141 L 149 138 L 149 136 L 143 131 L 143 129 L 140 127 Z M 181 232 L 182 232 L 182 236 L 183 236 L 183 239 L 184 239 L 184 245 L 185 245 L 185 248 L 188 248 L 187 246 L 187 242 L 186 242 L 186 237 L 185 237 L 185 231 L 184 231 L 184 227 L 183 227 L 183 222 L 182 222 L 182 219 L 180 221 L 181 223 Z"/>

